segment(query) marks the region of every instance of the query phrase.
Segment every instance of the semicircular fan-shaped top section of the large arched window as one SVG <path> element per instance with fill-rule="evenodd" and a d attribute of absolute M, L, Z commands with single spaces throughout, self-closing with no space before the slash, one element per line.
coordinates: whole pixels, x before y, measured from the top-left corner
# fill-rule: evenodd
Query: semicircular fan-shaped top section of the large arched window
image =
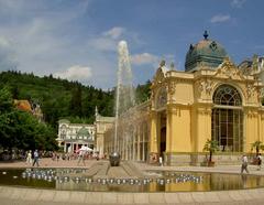
<path fill-rule="evenodd" d="M 239 91 L 230 85 L 221 85 L 213 94 L 213 104 L 226 106 L 242 106 Z"/>

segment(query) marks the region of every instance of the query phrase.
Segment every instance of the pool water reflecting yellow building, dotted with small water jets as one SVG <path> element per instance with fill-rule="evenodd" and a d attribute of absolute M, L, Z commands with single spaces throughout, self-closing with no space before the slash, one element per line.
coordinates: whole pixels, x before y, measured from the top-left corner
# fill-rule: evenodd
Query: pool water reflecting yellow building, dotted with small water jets
<path fill-rule="evenodd" d="M 264 187 L 248 174 L 156 172 L 144 179 L 98 179 L 84 169 L 4 169 L 0 185 L 98 192 L 188 192 Z"/>

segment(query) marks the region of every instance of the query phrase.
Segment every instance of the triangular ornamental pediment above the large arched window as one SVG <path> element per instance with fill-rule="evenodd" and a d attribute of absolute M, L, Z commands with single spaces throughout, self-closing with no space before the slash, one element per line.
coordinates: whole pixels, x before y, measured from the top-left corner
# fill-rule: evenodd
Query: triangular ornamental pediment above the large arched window
<path fill-rule="evenodd" d="M 245 79 L 241 71 L 234 65 L 233 62 L 230 61 L 229 57 L 224 58 L 223 63 L 217 69 L 215 76 L 219 78 L 230 78 L 239 80 Z"/>

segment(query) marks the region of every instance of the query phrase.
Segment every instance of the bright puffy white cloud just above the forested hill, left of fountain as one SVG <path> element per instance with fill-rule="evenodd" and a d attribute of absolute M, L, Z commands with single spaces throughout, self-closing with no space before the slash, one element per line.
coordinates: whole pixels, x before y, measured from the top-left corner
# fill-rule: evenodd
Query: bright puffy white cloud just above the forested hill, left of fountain
<path fill-rule="evenodd" d="M 91 68 L 87 66 L 74 65 L 64 72 L 54 73 L 54 77 L 63 79 L 87 82 L 91 78 Z"/>

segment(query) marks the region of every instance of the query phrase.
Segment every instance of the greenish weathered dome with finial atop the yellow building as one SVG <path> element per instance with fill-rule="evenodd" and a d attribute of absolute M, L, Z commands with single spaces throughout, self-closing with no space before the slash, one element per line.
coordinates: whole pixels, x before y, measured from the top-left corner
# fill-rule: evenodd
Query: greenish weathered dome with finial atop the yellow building
<path fill-rule="evenodd" d="M 200 66 L 216 68 L 223 62 L 223 58 L 227 57 L 228 54 L 226 50 L 218 42 L 209 40 L 207 31 L 204 36 L 205 39 L 196 45 L 190 44 L 185 61 L 186 72 L 197 71 Z"/>

